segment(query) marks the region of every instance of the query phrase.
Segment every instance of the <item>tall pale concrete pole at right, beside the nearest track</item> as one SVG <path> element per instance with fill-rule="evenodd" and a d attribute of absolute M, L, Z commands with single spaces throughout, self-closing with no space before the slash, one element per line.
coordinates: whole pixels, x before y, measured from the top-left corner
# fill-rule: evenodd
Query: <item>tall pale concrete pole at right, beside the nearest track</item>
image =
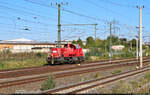
<path fill-rule="evenodd" d="M 142 68 L 143 67 L 143 58 L 142 58 L 142 8 L 144 8 L 144 6 L 142 6 L 142 7 L 137 6 L 137 8 L 139 8 L 140 68 Z"/>

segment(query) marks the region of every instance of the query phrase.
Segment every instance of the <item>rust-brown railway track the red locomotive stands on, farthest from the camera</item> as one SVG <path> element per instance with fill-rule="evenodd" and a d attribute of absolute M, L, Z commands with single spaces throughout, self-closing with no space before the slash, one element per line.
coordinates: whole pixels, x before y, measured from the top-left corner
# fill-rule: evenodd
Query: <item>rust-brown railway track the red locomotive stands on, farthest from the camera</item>
<path fill-rule="evenodd" d="M 144 58 L 148 59 L 148 58 Z M 124 60 L 114 60 L 111 64 L 118 64 L 120 62 L 127 62 L 127 61 L 134 61 L 136 59 L 124 59 Z M 21 76 L 31 76 L 31 75 L 38 75 L 38 74 L 44 74 L 44 73 L 53 73 L 53 72 L 60 72 L 60 71 L 67 71 L 72 69 L 80 69 L 80 68 L 87 68 L 87 67 L 94 67 L 94 66 L 104 66 L 109 65 L 108 61 L 104 62 L 94 62 L 94 63 L 84 63 L 81 64 L 81 66 L 77 66 L 77 64 L 72 65 L 56 65 L 56 66 L 44 66 L 39 68 L 25 68 L 25 69 L 16 69 L 16 70 L 5 70 L 0 71 L 0 79 L 4 78 L 16 78 Z M 32 73 L 31 73 L 32 72 Z"/>

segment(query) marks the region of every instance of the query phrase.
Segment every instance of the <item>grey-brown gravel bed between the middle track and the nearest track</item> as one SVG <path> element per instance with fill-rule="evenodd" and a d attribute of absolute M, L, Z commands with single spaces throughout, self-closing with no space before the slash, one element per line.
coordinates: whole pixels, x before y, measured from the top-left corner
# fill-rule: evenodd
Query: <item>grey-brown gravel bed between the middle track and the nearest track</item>
<path fill-rule="evenodd" d="M 135 69 L 135 66 L 120 67 L 118 69 L 120 69 L 121 72 L 125 72 L 125 71 Z M 105 70 L 105 71 L 99 71 L 99 72 L 85 73 L 82 75 L 58 78 L 58 79 L 55 79 L 56 88 L 67 86 L 70 84 L 80 83 L 80 82 L 82 82 L 81 78 L 84 79 L 84 81 L 96 79 L 96 77 L 95 77 L 96 74 L 99 74 L 99 77 L 106 77 L 106 76 L 112 75 L 112 72 L 114 70 L 116 70 L 116 68 L 112 68 L 112 69 Z M 29 84 L 23 84 L 23 85 L 17 85 L 17 86 L 13 86 L 13 87 L 9 87 L 9 88 L 3 88 L 3 89 L 0 89 L 0 92 L 1 93 L 39 93 L 40 88 L 41 88 L 41 83 L 43 83 L 43 81 L 29 83 Z"/>

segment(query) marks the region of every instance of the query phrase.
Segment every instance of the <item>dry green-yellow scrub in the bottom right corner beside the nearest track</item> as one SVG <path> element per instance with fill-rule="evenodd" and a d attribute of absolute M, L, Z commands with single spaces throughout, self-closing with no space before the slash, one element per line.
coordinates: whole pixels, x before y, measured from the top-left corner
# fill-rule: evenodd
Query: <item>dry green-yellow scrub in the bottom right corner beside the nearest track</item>
<path fill-rule="evenodd" d="M 118 84 L 116 84 L 109 90 L 109 93 L 148 93 L 149 89 L 147 88 L 146 88 L 147 90 L 144 90 L 144 92 L 142 92 L 141 90 L 137 91 L 137 89 L 141 88 L 142 86 L 144 86 L 149 82 L 150 82 L 150 74 L 146 73 L 143 77 L 137 80 L 131 81 L 121 80 Z M 108 93 L 108 91 L 102 88 L 100 89 L 100 93 Z"/>

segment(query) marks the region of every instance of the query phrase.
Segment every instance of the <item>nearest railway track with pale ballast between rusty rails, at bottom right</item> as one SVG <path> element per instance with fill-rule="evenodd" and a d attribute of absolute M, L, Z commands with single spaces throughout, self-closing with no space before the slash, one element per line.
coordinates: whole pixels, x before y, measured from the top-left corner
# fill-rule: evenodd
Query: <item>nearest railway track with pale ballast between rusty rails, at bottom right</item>
<path fill-rule="evenodd" d="M 67 86 L 67 87 L 48 90 L 48 91 L 44 91 L 43 93 L 44 94 L 87 93 L 91 89 L 95 89 L 97 87 L 102 87 L 106 84 L 109 84 L 109 83 L 112 83 L 112 82 L 115 82 L 115 81 L 119 81 L 121 79 L 128 78 L 128 77 L 131 77 L 131 76 L 135 76 L 135 75 L 141 74 L 143 72 L 147 72 L 147 71 L 150 71 L 150 67 L 144 67 L 144 68 L 139 69 L 139 70 L 132 70 L 132 71 L 120 73 L 120 74 L 117 74 L 117 75 L 111 75 L 111 76 L 104 77 L 104 78 L 99 78 L 99 79 L 96 79 L 96 80 L 90 80 L 90 81 L 82 82 L 82 83 L 79 83 L 79 84 L 70 85 L 70 86 Z"/>

